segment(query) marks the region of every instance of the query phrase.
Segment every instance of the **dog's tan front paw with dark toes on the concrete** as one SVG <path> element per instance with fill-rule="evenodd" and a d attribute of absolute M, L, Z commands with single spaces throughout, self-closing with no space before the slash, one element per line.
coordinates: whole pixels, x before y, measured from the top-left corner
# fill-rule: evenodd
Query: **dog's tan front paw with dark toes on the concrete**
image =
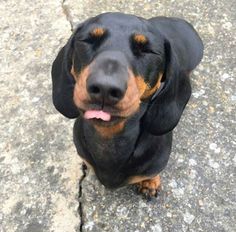
<path fill-rule="evenodd" d="M 147 198 L 157 197 L 161 190 L 161 178 L 159 175 L 149 180 L 144 180 L 138 184 L 138 192 Z"/>

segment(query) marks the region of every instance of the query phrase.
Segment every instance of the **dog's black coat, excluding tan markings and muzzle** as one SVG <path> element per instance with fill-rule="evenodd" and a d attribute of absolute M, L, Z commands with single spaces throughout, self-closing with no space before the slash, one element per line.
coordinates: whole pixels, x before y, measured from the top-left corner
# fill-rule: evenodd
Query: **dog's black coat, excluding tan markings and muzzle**
<path fill-rule="evenodd" d="M 89 31 L 95 27 L 106 34 L 92 43 Z M 135 33 L 148 38 L 146 47 L 131 42 Z M 100 52 L 119 50 L 132 71 L 154 86 L 158 73 L 164 73 L 163 88 L 140 105 L 126 122 L 122 133 L 111 139 L 101 137 L 85 120 L 73 102 L 75 81 L 70 74 L 80 71 Z M 203 44 L 186 21 L 156 17 L 149 20 L 122 13 L 106 13 L 80 24 L 59 52 L 52 67 L 53 103 L 68 118 L 77 118 L 74 142 L 79 155 L 94 168 L 107 187 L 126 184 L 131 176 L 154 176 L 167 164 L 172 130 L 177 125 L 191 95 L 190 72 L 203 56 Z"/>

